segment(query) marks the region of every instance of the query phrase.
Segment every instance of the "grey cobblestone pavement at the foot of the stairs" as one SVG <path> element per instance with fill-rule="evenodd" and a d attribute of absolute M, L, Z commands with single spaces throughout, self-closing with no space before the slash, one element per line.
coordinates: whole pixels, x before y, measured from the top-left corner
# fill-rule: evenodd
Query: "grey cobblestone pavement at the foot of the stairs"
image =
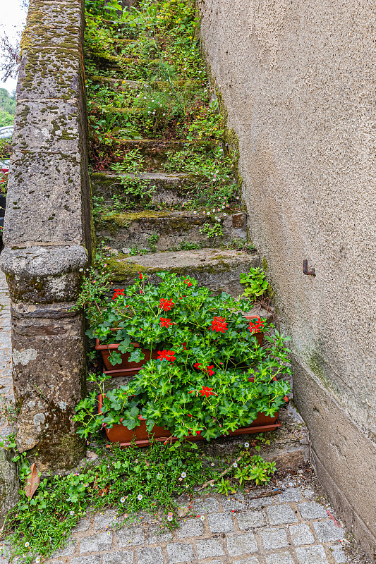
<path fill-rule="evenodd" d="M 81 520 L 54 564 L 340 564 L 365 562 L 345 555 L 344 529 L 314 500 L 309 486 L 289 483 L 277 496 L 198 496 L 193 517 L 174 531 L 152 517 L 119 521 L 116 511 Z M 186 507 L 188 499 L 180 499 Z M 330 514 L 332 515 L 332 513 Z"/>

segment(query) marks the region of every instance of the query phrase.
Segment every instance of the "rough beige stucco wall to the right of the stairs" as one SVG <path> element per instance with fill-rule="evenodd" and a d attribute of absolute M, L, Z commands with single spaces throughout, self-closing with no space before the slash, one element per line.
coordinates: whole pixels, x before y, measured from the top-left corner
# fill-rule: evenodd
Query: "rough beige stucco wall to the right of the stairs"
<path fill-rule="evenodd" d="M 198 4 L 207 61 L 238 136 L 250 236 L 292 337 L 295 398 L 317 470 L 373 553 L 376 7 Z M 303 259 L 317 276 L 303 275 Z"/>

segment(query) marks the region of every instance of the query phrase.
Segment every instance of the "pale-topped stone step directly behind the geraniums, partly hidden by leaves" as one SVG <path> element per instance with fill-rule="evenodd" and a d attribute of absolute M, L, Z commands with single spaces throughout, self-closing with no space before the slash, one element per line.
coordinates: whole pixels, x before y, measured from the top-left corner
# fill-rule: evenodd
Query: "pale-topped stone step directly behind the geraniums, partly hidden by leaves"
<path fill-rule="evenodd" d="M 149 274 L 153 283 L 160 281 L 156 272 L 170 271 L 193 276 L 200 286 L 215 293 L 226 292 L 238 298 L 244 292 L 239 275 L 260 266 L 256 252 L 202 249 L 176 252 L 152 252 L 147 255 L 116 255 L 107 259 L 119 287 L 133 284 L 138 271 Z"/>

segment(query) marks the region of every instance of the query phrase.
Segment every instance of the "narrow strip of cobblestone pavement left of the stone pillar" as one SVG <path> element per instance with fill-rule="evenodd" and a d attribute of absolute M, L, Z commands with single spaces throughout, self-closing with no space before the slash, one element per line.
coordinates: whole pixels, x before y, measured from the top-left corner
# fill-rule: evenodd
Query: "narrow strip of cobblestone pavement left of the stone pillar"
<path fill-rule="evenodd" d="M 0 410 L 1 396 L 13 400 L 12 345 L 11 345 L 11 298 L 4 272 L 0 270 Z M 4 397 L 3 396 L 3 397 Z M 10 432 L 6 419 L 0 415 L 0 435 Z"/>

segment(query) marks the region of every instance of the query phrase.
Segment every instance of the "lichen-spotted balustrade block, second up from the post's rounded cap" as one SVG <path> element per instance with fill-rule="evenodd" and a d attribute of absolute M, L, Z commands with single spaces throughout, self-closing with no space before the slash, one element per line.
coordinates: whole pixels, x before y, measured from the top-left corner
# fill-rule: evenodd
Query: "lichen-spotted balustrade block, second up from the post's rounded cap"
<path fill-rule="evenodd" d="M 80 143 L 78 100 L 35 100 L 18 102 L 13 152 L 77 152 Z"/>

